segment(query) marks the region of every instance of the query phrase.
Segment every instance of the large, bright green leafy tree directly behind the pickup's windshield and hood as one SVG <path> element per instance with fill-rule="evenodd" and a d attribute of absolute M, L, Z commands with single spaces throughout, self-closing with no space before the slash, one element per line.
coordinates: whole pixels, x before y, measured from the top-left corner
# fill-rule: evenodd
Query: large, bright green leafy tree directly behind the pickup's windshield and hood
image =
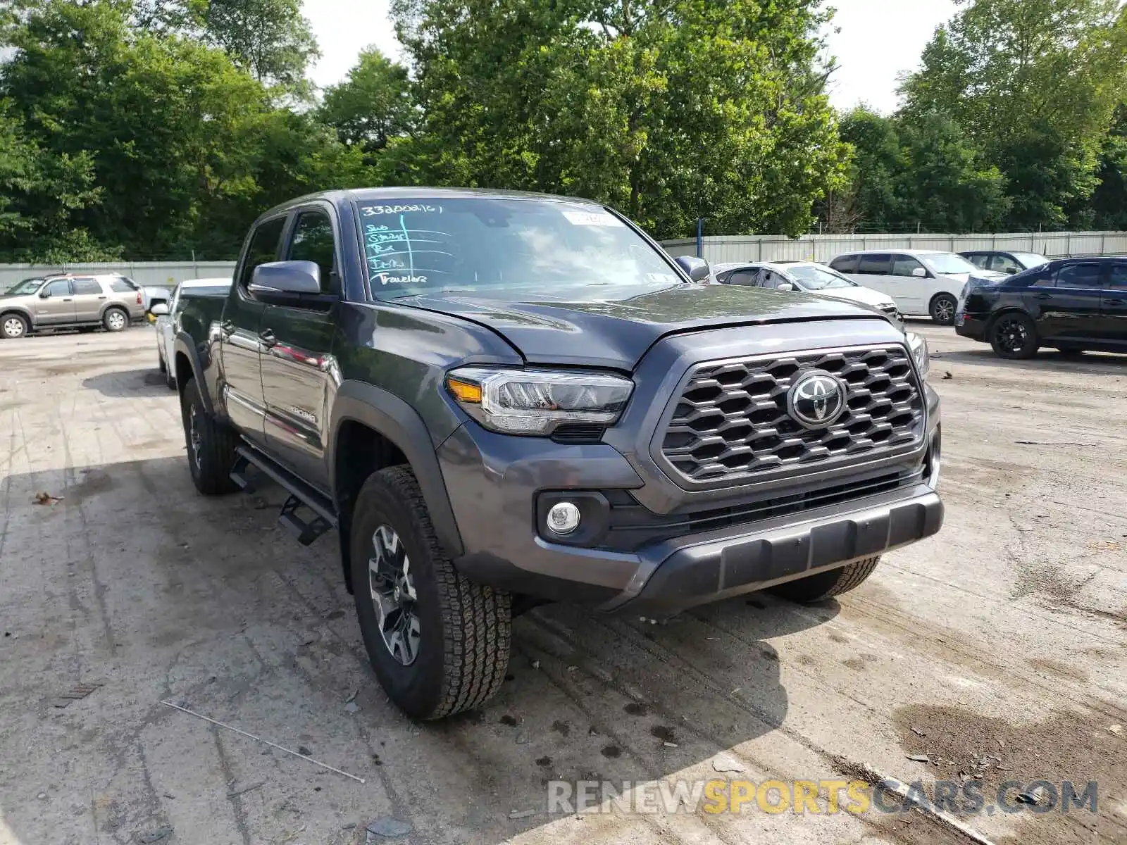
<path fill-rule="evenodd" d="M 842 174 L 813 0 L 397 0 L 402 179 L 578 194 L 658 237 L 810 224 Z"/>

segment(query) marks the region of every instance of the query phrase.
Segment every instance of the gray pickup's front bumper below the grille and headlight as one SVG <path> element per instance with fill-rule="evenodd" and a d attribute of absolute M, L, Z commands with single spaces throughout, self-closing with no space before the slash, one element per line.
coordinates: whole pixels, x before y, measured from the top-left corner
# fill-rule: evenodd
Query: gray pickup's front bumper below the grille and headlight
<path fill-rule="evenodd" d="M 637 489 L 640 480 L 621 454 L 604 444 L 505 437 L 470 422 L 438 450 L 465 545 L 454 563 L 472 580 L 512 593 L 671 616 L 937 533 L 943 522 L 934 491 L 938 426 L 929 438 L 924 480 L 912 487 L 619 552 L 548 542 L 534 521 L 538 491 L 580 482 L 585 489 Z"/>

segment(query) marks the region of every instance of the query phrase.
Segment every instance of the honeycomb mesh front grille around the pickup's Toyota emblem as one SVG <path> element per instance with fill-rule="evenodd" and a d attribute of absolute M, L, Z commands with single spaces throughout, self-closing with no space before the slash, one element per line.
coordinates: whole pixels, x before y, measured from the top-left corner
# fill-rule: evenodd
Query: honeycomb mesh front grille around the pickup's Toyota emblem
<path fill-rule="evenodd" d="M 845 411 L 828 428 L 804 428 L 787 411 L 787 392 L 807 370 L 846 385 Z M 899 345 L 708 362 L 682 384 L 662 455 L 692 482 L 849 465 L 923 439 L 923 394 Z"/>

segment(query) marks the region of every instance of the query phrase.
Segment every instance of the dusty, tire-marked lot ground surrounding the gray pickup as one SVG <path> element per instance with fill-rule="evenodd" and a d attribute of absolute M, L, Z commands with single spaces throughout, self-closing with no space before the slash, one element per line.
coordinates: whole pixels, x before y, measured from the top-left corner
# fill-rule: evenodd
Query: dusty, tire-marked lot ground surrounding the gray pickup
<path fill-rule="evenodd" d="M 1006 363 L 920 329 L 937 537 L 822 607 L 538 608 L 500 695 L 432 724 L 376 685 L 334 539 L 278 530 L 277 488 L 196 495 L 150 329 L 0 343 L 0 844 L 344 845 L 387 818 L 412 844 L 1127 842 L 1127 357 Z M 975 781 L 990 806 L 967 833 L 825 792 L 818 813 L 549 813 L 545 788 L 854 776 Z M 1098 811 L 990 812 L 1008 780 L 1097 781 Z"/>

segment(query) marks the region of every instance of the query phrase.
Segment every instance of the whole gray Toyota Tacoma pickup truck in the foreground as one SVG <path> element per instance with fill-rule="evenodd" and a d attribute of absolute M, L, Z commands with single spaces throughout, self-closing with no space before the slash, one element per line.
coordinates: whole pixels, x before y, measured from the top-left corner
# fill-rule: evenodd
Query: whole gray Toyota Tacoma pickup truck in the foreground
<path fill-rule="evenodd" d="M 375 675 L 419 719 L 489 699 L 538 603 L 852 589 L 942 523 L 926 345 L 708 278 L 583 199 L 294 199 L 177 317 L 192 479 L 273 480 L 300 542 L 337 532 Z"/>

